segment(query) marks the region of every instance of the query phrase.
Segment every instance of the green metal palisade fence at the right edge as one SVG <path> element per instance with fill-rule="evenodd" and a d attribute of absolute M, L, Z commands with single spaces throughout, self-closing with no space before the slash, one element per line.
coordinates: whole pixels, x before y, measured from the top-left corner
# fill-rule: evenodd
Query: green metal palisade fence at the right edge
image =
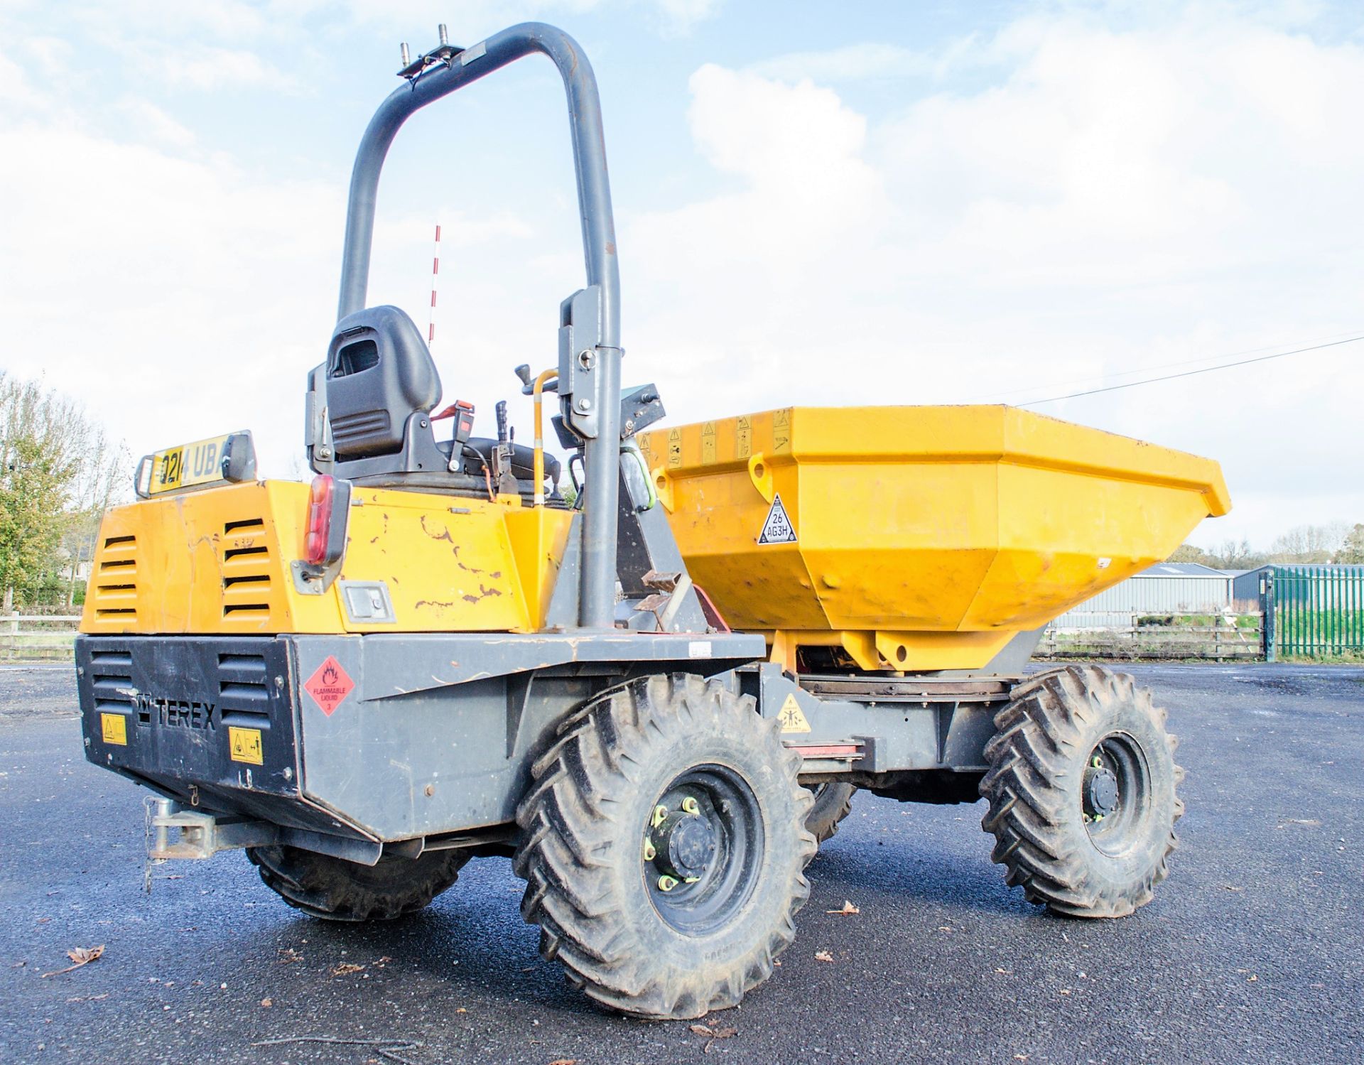
<path fill-rule="evenodd" d="M 1271 574 L 1278 656 L 1364 653 L 1364 566 L 1275 566 Z"/>

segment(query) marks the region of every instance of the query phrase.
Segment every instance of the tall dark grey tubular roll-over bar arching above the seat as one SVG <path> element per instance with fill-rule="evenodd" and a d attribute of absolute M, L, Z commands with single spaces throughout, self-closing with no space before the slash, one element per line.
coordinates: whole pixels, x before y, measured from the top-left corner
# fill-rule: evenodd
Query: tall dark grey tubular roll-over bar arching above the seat
<path fill-rule="evenodd" d="M 341 260 L 341 299 L 337 320 L 364 310 L 370 281 L 370 252 L 374 243 L 374 211 L 379 173 L 389 146 L 402 123 L 420 108 L 456 89 L 462 89 L 522 56 L 548 56 L 563 78 L 573 136 L 573 162 L 578 185 L 578 213 L 582 222 L 582 256 L 587 289 L 597 293 L 595 364 L 591 375 L 591 406 L 584 398 L 576 408 L 565 402 L 565 417 L 591 409 L 596 432 L 585 443 L 582 515 L 582 574 L 578 623 L 587 629 L 610 629 L 615 618 L 617 577 L 617 496 L 621 450 L 621 273 L 615 254 L 615 221 L 607 179 L 606 140 L 602 130 L 602 102 L 592 65 L 581 46 L 563 30 L 540 22 L 495 33 L 438 63 L 396 89 L 370 120 L 351 172 L 351 199 L 346 206 L 345 251 Z M 582 337 L 574 348 L 582 348 Z"/>

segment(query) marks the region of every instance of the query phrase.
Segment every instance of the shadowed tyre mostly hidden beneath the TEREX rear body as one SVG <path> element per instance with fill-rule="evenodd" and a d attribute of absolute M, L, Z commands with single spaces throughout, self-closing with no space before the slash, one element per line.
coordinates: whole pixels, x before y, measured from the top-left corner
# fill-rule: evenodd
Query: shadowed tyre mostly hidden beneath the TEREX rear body
<path fill-rule="evenodd" d="M 296 847 L 250 847 L 261 880 L 289 905 L 325 920 L 393 920 L 446 890 L 469 860 L 464 851 L 381 858 L 361 866 Z"/>

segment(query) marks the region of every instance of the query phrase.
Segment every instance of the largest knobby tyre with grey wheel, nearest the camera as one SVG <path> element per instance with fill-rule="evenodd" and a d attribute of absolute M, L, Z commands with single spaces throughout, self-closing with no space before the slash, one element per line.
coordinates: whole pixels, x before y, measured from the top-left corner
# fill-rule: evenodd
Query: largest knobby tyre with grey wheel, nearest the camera
<path fill-rule="evenodd" d="M 814 855 L 801 758 L 752 698 L 649 676 L 588 702 L 517 811 L 521 914 L 593 1000 L 644 1017 L 734 1006 L 795 935 Z"/>

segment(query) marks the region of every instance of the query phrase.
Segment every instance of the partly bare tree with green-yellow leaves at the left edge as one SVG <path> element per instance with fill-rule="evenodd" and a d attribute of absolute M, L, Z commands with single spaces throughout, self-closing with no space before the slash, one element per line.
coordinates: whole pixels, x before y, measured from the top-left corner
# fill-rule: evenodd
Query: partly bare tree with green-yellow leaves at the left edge
<path fill-rule="evenodd" d="M 110 447 L 75 402 L 0 371 L 0 592 L 5 610 L 16 600 L 31 601 L 45 582 L 52 585 L 63 569 L 63 539 L 74 521 L 87 539 L 94 536 L 90 524 L 119 491 L 116 466 L 125 466 L 123 450 Z"/>

